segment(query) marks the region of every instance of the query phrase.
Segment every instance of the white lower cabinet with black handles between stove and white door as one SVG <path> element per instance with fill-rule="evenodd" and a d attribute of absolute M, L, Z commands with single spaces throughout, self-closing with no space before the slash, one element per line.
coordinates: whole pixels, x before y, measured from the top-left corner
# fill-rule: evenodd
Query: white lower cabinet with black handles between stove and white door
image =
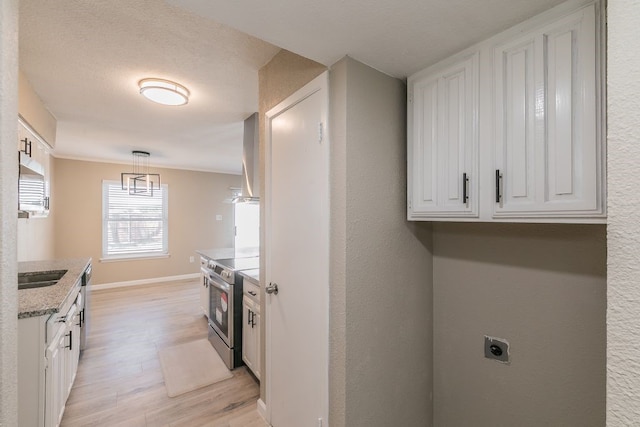
<path fill-rule="evenodd" d="M 260 379 L 260 299 L 259 288 L 244 283 L 242 298 L 242 360 Z"/>

